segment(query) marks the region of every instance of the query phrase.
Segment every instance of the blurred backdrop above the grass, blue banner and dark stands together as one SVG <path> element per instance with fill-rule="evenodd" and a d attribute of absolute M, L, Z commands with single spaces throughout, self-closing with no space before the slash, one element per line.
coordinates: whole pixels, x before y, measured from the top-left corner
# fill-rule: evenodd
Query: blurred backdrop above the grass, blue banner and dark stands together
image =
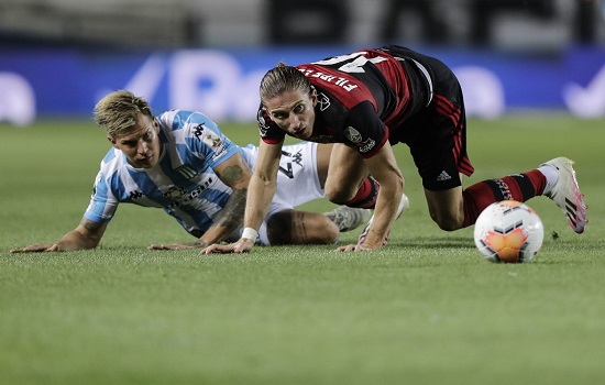
<path fill-rule="evenodd" d="M 128 88 L 157 110 L 251 121 L 260 77 L 397 43 L 459 76 L 470 116 L 605 114 L 597 0 L 1 0 L 0 121 L 89 117 Z"/>

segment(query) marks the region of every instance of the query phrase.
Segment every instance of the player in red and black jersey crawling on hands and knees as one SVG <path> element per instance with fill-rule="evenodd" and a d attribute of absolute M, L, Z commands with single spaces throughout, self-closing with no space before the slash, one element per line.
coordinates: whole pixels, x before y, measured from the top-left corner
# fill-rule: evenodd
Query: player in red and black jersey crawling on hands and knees
<path fill-rule="evenodd" d="M 376 250 L 386 244 L 405 198 L 404 177 L 392 150 L 397 143 L 409 146 L 430 216 L 443 230 L 473 224 L 494 201 L 526 201 L 546 195 L 565 212 L 575 232 L 584 231 L 586 206 L 568 158 L 462 188 L 460 174 L 473 173 L 466 155 L 462 90 L 452 70 L 433 57 L 391 45 L 296 67 L 280 63 L 263 77 L 261 101 L 262 141 L 244 219 L 251 233 L 260 227 L 275 191 L 286 135 L 337 143 L 326 196 L 336 204 L 375 209 L 359 242 L 340 251 Z M 374 179 L 377 184 L 371 183 Z M 206 252 L 251 249 L 250 240 L 242 238 Z"/>

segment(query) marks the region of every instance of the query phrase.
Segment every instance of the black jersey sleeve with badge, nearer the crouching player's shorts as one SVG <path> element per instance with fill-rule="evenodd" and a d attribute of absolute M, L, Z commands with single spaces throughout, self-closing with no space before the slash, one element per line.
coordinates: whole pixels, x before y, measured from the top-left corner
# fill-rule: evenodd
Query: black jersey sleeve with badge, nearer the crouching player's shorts
<path fill-rule="evenodd" d="M 364 158 L 372 157 L 388 140 L 388 128 L 370 101 L 353 107 L 344 121 L 344 142 L 356 147 Z"/>

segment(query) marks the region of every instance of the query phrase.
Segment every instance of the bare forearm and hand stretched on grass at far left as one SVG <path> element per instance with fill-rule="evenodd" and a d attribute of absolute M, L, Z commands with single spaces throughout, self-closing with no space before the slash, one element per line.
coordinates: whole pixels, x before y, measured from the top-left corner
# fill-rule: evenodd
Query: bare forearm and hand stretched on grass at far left
<path fill-rule="evenodd" d="M 80 224 L 56 242 L 36 243 L 26 248 L 13 249 L 11 253 L 40 253 L 95 249 L 103 237 L 107 223 L 97 223 L 82 218 Z"/>

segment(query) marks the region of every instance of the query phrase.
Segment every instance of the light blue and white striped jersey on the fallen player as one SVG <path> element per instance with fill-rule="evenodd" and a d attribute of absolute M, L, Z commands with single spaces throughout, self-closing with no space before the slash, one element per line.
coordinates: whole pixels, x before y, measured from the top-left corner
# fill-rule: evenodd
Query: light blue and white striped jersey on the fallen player
<path fill-rule="evenodd" d="M 244 155 L 243 150 L 202 113 L 172 110 L 157 119 L 163 144 L 158 164 L 134 168 L 121 151 L 111 148 L 101 162 L 84 216 L 105 223 L 120 202 L 157 207 L 199 238 L 231 195 L 212 168 L 237 153 Z"/>

